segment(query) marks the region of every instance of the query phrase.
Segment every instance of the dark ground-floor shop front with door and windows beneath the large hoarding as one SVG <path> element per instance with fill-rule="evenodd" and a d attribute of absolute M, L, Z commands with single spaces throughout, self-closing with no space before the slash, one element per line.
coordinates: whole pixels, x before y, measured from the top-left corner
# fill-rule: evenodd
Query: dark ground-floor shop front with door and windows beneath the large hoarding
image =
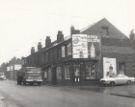
<path fill-rule="evenodd" d="M 46 83 L 53 85 L 89 85 L 97 81 L 97 60 L 74 60 L 47 67 Z"/>

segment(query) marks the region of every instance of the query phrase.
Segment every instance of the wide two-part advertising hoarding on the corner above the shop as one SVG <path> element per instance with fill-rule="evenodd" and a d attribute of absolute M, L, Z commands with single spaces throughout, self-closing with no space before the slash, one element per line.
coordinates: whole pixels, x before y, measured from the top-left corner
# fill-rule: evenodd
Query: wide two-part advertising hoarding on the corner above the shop
<path fill-rule="evenodd" d="M 100 58 L 101 40 L 97 35 L 72 35 L 73 58 Z"/>

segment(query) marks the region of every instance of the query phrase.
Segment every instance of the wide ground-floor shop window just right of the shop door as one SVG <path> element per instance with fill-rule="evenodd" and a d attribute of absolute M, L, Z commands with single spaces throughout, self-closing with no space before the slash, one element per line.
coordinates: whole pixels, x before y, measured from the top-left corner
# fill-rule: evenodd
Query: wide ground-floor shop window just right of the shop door
<path fill-rule="evenodd" d="M 95 79 L 95 78 L 96 78 L 95 65 L 87 65 L 85 79 L 90 80 L 90 79 Z"/>

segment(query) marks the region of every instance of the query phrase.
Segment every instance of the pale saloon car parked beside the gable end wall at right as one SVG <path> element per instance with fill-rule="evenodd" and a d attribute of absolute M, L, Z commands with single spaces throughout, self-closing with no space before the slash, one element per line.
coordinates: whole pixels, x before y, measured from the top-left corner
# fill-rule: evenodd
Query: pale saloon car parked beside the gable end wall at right
<path fill-rule="evenodd" d="M 128 77 L 124 74 L 119 74 L 117 76 L 114 77 L 106 77 L 106 78 L 102 78 L 100 80 L 100 82 L 104 85 L 120 85 L 120 84 L 131 84 L 135 82 L 135 78 L 134 77 Z"/>

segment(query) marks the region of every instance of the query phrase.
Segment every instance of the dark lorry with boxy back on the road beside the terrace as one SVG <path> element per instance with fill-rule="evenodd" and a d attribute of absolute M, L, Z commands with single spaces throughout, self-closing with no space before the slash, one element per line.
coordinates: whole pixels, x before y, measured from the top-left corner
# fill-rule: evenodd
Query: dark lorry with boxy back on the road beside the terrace
<path fill-rule="evenodd" d="M 18 85 L 26 85 L 26 84 L 41 85 L 42 82 L 43 82 L 43 79 L 42 79 L 41 68 L 22 67 L 22 69 L 17 72 L 17 84 Z"/>

